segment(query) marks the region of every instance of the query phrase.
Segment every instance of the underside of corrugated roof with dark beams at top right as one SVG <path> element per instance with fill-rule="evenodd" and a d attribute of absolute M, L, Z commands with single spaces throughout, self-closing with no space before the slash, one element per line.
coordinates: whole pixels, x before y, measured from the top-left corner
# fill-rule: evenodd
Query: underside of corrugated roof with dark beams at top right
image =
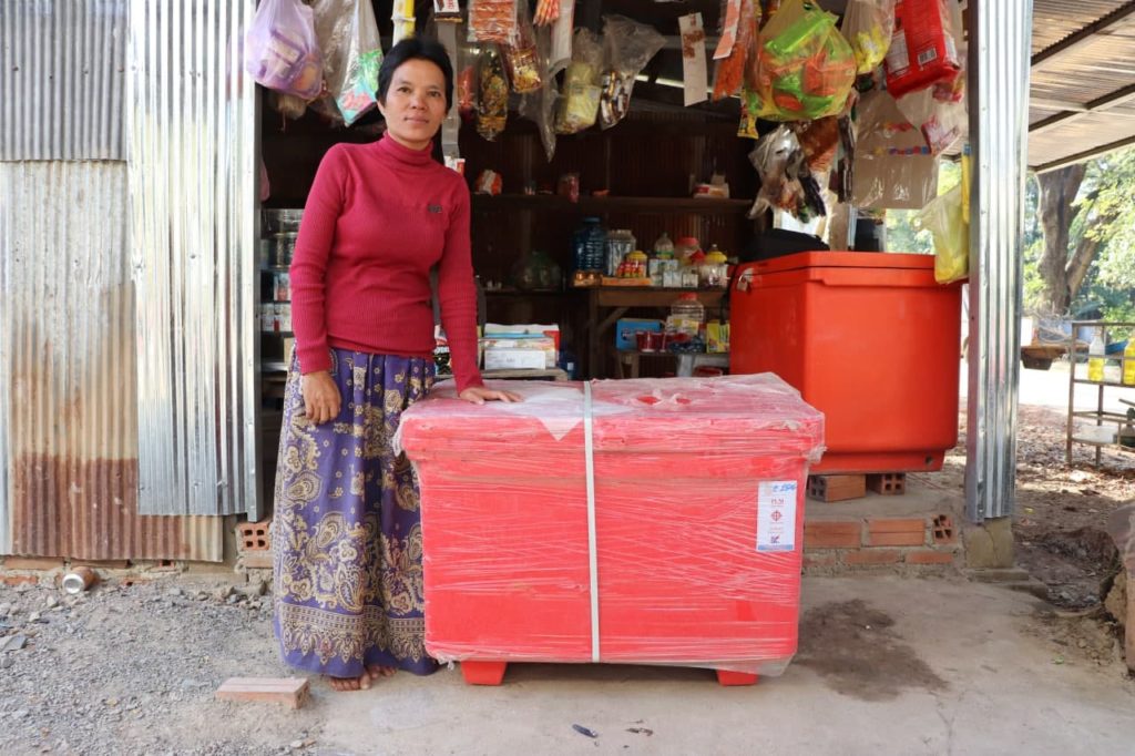
<path fill-rule="evenodd" d="M 1135 1 L 1035 0 L 1028 163 L 1135 142 Z"/>

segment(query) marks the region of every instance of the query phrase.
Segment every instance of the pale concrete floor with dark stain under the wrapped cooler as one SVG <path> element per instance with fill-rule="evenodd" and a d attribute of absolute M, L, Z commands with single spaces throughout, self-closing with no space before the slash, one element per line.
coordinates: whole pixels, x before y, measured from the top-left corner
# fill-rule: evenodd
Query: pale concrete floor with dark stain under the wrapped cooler
<path fill-rule="evenodd" d="M 1135 683 L 1123 663 L 1063 658 L 1035 616 L 1041 605 L 1025 594 L 959 578 L 856 577 L 806 578 L 802 596 L 800 653 L 782 677 L 751 688 L 721 688 L 704 670 L 548 664 L 514 665 L 499 688 L 466 687 L 456 670 L 400 674 L 359 694 L 318 684 L 313 713 L 326 723 L 318 748 L 1132 753 Z M 854 611 L 833 612 L 840 607 Z"/>

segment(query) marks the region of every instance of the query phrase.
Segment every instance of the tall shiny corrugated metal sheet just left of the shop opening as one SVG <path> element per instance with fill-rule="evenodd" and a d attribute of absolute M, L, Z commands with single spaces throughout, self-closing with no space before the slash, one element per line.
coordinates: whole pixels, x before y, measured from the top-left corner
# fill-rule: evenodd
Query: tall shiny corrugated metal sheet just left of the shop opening
<path fill-rule="evenodd" d="M 253 0 L 136 0 L 127 43 L 148 514 L 255 515 Z"/>

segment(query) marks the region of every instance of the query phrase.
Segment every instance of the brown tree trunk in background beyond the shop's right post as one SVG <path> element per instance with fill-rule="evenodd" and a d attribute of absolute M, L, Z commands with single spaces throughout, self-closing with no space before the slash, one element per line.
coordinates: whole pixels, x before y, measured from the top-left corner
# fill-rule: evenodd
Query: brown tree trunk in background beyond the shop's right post
<path fill-rule="evenodd" d="M 1086 166 L 1076 163 L 1036 177 L 1041 187 L 1041 227 L 1044 229 L 1044 252 L 1040 261 L 1044 279 L 1041 306 L 1051 314 L 1065 314 L 1071 300 L 1068 289 L 1068 233 L 1076 216 L 1071 203 L 1076 200 L 1085 171 Z M 1079 279 L 1083 280 L 1083 276 Z"/>

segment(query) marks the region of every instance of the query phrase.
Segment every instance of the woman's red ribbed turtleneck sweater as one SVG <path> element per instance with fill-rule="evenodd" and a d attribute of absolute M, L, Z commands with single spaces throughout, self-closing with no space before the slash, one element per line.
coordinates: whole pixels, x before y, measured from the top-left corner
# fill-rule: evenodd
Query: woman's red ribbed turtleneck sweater
<path fill-rule="evenodd" d="M 464 179 L 389 136 L 328 150 L 292 261 L 301 371 L 329 369 L 329 346 L 432 356 L 435 264 L 457 390 L 480 386 Z"/>

